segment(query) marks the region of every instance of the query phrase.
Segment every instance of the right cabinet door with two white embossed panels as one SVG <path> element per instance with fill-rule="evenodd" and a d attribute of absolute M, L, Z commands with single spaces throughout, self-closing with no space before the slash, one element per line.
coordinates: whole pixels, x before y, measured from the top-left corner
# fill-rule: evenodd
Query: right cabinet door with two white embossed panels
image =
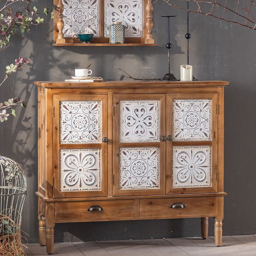
<path fill-rule="evenodd" d="M 217 192 L 218 94 L 167 95 L 166 193 Z"/>

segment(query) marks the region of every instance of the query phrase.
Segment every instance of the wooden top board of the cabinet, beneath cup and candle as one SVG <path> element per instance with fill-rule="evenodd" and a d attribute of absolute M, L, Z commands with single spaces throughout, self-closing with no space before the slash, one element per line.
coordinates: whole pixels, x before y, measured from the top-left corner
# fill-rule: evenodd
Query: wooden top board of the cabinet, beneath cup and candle
<path fill-rule="evenodd" d="M 36 86 L 45 88 L 131 88 L 131 87 L 223 87 L 227 81 L 105 81 L 98 83 L 80 83 L 63 81 L 37 81 Z"/>

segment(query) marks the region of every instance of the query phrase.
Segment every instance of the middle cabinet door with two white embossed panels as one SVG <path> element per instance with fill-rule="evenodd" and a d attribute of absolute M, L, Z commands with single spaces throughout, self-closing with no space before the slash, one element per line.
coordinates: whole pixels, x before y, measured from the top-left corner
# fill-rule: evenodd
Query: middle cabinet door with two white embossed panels
<path fill-rule="evenodd" d="M 113 195 L 165 194 L 166 95 L 114 95 Z"/>

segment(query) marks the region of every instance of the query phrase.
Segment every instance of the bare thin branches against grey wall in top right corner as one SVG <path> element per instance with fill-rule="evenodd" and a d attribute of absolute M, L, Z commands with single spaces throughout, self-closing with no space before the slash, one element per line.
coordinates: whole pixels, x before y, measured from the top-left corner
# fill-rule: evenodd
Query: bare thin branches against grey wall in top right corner
<path fill-rule="evenodd" d="M 157 2 L 155 0 L 153 3 Z M 179 2 L 179 4 L 175 3 L 175 0 L 162 0 L 178 9 L 182 9 L 186 11 L 186 8 L 183 8 Z M 192 9 L 189 9 L 189 12 L 192 13 L 200 13 L 202 15 L 212 16 L 214 18 L 218 18 L 221 20 L 225 20 L 226 22 L 231 22 L 234 24 L 238 24 L 250 29 L 256 29 L 256 1 L 255 0 L 236 0 L 235 1 L 221 1 L 221 0 L 183 0 L 193 2 L 194 6 Z M 232 5 L 231 5 L 232 4 Z M 233 9 L 231 6 L 235 6 Z M 193 9 L 194 8 L 194 9 Z M 209 11 L 207 11 L 209 10 Z M 219 12 L 218 12 L 219 11 Z"/>

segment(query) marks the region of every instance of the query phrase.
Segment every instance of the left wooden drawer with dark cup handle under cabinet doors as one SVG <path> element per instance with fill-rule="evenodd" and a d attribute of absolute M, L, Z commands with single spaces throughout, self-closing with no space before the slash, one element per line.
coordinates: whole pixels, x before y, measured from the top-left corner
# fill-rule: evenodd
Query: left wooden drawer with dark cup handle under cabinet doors
<path fill-rule="evenodd" d="M 99 206 L 102 211 L 87 211 L 91 206 Z M 97 209 L 97 208 L 96 208 Z M 59 221 L 111 221 L 134 216 L 134 200 L 109 200 L 86 202 L 56 202 L 55 219 Z"/>

